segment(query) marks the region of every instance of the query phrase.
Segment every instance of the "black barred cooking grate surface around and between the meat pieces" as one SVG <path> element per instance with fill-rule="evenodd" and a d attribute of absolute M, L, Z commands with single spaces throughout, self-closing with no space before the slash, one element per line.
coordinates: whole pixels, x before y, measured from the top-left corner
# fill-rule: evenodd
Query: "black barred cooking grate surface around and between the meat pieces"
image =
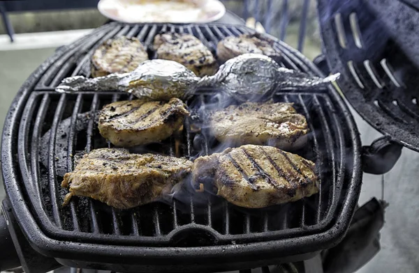
<path fill-rule="evenodd" d="M 335 236 L 336 240 L 336 236 L 343 234 L 337 231 L 348 227 L 360 191 L 360 143 L 348 110 L 332 89 L 278 92 L 274 97 L 277 102 L 294 102 L 297 111 L 307 117 L 311 130 L 309 143 L 296 153 L 316 162 L 321 178 L 320 193 L 310 198 L 260 210 L 238 208 L 216 196 L 200 194 L 181 196 L 172 205 L 152 203 L 132 210 L 116 210 L 89 198 L 73 198 L 70 205 L 61 207 L 67 192 L 60 186 L 64 173 L 73 169 L 75 160 L 82 153 L 108 147 L 94 121 L 96 111 L 109 102 L 133 98 L 122 93 L 59 94 L 53 91 L 54 87 L 64 77 L 89 76 L 90 56 L 103 40 L 135 36 L 148 46 L 159 31 L 193 33 L 214 51 L 222 38 L 237 36 L 250 29 L 111 23 L 60 49 L 45 73 L 34 80 L 34 90 L 24 93 L 26 101 L 17 108 L 20 109 L 20 123 L 10 131 L 14 144 L 10 145 L 10 150 L 7 145 L 3 147 L 13 155 L 15 163 L 10 166 L 19 180 L 17 187 L 24 201 L 30 204 L 28 209 L 43 233 L 61 242 L 142 247 L 205 247 L 290 238 L 304 240 L 301 237 L 328 232 L 332 226 L 337 228 L 334 234 L 330 233 L 329 239 Z M 284 53 L 281 65 L 318 73 L 309 61 L 284 43 L 277 42 L 275 46 Z M 216 91 L 199 91 L 188 104 L 205 104 L 208 92 Z M 192 118 L 186 119 L 182 134 L 147 146 L 147 151 L 190 159 L 202 154 L 203 150 L 214 152 L 217 143 L 191 130 L 194 122 Z M 6 179 L 6 185 L 8 183 L 14 185 Z M 349 208 L 349 212 L 344 214 L 344 208 Z M 319 240 L 323 239 L 319 237 Z M 320 244 L 318 249 L 321 249 Z"/>

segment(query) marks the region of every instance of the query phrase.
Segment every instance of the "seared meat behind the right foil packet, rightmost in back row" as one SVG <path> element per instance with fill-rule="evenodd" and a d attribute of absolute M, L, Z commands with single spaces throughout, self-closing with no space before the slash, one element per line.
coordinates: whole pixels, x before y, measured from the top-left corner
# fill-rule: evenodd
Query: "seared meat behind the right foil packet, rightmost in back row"
<path fill-rule="evenodd" d="M 281 54 L 273 48 L 273 42 L 261 37 L 258 33 L 229 36 L 216 46 L 216 56 L 222 62 L 246 53 L 264 54 L 271 57 Z"/>

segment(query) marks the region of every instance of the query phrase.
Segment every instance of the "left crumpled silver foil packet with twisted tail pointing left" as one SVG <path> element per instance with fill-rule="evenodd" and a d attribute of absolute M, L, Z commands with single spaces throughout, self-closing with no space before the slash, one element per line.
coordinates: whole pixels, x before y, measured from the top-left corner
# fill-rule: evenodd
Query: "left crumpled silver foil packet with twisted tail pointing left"
<path fill-rule="evenodd" d="M 68 77 L 55 89 L 61 93 L 78 91 L 122 91 L 149 100 L 186 100 L 195 93 L 199 77 L 180 63 L 167 60 L 142 62 L 132 72 L 88 79 Z"/>

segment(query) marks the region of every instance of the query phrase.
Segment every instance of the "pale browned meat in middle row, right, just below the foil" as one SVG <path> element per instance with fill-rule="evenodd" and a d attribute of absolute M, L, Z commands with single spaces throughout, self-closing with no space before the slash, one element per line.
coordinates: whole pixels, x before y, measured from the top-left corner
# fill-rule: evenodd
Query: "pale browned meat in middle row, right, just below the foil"
<path fill-rule="evenodd" d="M 246 102 L 215 110 L 209 115 L 212 133 L 219 141 L 238 146 L 258 144 L 292 150 L 307 142 L 307 120 L 292 103 Z"/>

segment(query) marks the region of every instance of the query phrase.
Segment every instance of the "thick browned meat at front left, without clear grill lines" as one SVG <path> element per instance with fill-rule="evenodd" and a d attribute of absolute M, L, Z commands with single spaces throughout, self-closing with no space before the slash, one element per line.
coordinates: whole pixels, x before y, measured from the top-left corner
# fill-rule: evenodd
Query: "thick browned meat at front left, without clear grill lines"
<path fill-rule="evenodd" d="M 177 157 L 102 148 L 84 155 L 61 187 L 70 187 L 71 196 L 87 196 L 114 208 L 133 208 L 170 194 L 172 187 L 190 173 L 192 162 Z"/>

